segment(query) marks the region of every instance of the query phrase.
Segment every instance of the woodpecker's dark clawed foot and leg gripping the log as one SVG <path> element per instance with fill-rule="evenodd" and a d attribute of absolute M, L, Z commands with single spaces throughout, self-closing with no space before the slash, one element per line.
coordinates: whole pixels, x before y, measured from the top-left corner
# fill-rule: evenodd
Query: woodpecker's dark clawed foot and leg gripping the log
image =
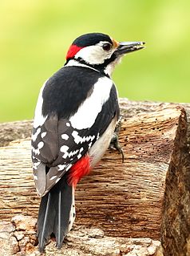
<path fill-rule="evenodd" d="M 121 144 L 119 142 L 119 133 L 121 130 L 121 119 L 122 119 L 122 117 L 120 117 L 119 120 L 117 121 L 115 131 L 113 132 L 112 140 L 109 144 L 109 148 L 116 149 L 118 152 L 120 152 L 120 154 L 122 156 L 122 163 L 124 163 L 125 156 L 124 156 L 123 149 L 121 148 Z"/>

